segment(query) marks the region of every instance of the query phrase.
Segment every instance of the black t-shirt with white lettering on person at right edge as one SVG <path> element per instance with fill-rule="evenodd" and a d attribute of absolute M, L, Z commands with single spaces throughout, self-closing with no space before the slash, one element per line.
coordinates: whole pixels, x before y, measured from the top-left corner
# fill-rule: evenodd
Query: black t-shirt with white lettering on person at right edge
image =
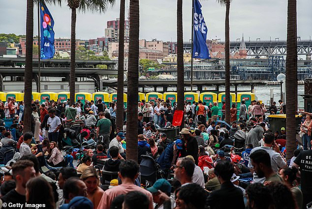
<path fill-rule="evenodd" d="M 302 192 L 312 193 L 312 150 L 301 151 L 294 163 L 300 167 Z"/>

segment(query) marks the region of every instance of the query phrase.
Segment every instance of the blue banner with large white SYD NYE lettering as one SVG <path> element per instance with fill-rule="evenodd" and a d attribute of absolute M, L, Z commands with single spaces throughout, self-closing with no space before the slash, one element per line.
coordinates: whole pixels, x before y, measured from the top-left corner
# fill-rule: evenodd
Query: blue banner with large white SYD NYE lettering
<path fill-rule="evenodd" d="M 194 1 L 194 27 L 193 27 L 193 55 L 192 58 L 211 59 L 206 44 L 208 28 L 206 26 L 203 14 L 201 13 L 201 4 L 199 0 Z"/>

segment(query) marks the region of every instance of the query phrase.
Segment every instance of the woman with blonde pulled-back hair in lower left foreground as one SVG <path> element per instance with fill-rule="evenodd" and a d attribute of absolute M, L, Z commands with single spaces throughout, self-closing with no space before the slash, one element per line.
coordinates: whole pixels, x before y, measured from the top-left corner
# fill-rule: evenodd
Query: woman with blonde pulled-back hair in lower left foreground
<path fill-rule="evenodd" d="M 85 169 L 80 179 L 85 182 L 88 188 L 87 198 L 91 200 L 94 205 L 94 209 L 96 209 L 104 193 L 104 191 L 99 187 L 100 178 L 97 171 L 94 167 L 89 167 Z"/>

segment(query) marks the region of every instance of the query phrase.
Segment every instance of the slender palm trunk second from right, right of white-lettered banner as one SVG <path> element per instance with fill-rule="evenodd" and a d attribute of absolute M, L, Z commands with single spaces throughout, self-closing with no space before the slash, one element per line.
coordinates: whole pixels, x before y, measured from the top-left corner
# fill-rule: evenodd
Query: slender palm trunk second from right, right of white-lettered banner
<path fill-rule="evenodd" d="M 230 0 L 225 2 L 225 121 L 230 123 Z"/>

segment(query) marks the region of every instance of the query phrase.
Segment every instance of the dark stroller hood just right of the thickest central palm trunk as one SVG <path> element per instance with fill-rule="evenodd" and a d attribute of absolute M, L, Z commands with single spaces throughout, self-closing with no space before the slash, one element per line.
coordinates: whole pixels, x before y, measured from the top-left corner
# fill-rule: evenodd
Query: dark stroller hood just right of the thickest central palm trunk
<path fill-rule="evenodd" d="M 150 155 L 141 155 L 140 163 L 141 182 L 144 186 L 152 186 L 157 179 L 164 178 L 164 171 Z"/>

